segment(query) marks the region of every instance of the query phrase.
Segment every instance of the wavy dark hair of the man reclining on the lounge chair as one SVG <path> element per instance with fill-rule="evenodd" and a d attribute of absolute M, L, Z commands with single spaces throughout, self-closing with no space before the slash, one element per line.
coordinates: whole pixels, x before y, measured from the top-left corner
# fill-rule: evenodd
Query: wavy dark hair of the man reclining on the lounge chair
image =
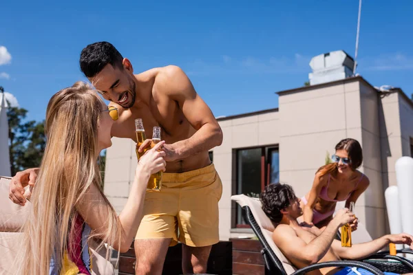
<path fill-rule="evenodd" d="M 290 201 L 295 199 L 293 187 L 288 184 L 270 184 L 261 194 L 262 210 L 274 223 L 282 220 L 281 210 L 290 206 Z"/>

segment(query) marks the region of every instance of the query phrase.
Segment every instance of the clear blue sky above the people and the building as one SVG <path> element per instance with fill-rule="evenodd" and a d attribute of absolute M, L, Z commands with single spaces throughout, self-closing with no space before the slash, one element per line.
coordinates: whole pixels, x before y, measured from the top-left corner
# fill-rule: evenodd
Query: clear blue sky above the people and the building
<path fill-rule="evenodd" d="M 62 3 L 61 3 L 62 2 Z M 258 2 L 258 1 L 257 1 Z M 50 97 L 85 78 L 78 57 L 109 41 L 136 73 L 182 67 L 213 113 L 278 107 L 275 91 L 308 80 L 312 56 L 354 56 L 358 0 L 3 1 L 0 85 L 28 119 L 43 120 Z M 413 3 L 363 0 L 357 72 L 372 85 L 413 92 Z M 1 48 L 0 48 L 1 55 Z M 1 64 L 1 56 L 0 56 Z"/>

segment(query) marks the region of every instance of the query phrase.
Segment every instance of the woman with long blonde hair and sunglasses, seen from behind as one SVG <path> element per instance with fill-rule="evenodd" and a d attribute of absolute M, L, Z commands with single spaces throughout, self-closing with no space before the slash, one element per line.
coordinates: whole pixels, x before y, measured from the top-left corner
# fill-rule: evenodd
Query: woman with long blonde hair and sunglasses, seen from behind
<path fill-rule="evenodd" d="M 117 109 L 108 109 L 85 83 L 50 99 L 47 146 L 23 226 L 16 274 L 91 274 L 92 238 L 120 252 L 129 249 L 142 218 L 147 181 L 165 170 L 165 152 L 158 151 L 165 142 L 138 162 L 129 199 L 118 216 L 100 188 L 96 164 L 100 151 L 112 145 L 110 131 L 117 118 Z"/>

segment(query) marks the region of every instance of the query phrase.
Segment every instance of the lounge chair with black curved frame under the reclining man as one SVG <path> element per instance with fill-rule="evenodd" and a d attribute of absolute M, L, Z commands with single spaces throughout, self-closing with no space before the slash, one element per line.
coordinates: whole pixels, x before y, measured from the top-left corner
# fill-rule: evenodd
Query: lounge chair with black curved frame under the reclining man
<path fill-rule="evenodd" d="M 245 219 L 253 232 L 257 235 L 257 238 L 262 244 L 262 256 L 264 257 L 264 263 L 266 267 L 266 274 L 282 274 L 282 275 L 296 275 L 305 274 L 313 270 L 319 270 L 323 267 L 360 267 L 372 272 L 373 274 L 383 274 L 383 272 L 396 272 L 396 273 L 408 273 L 412 272 L 413 265 L 411 263 L 405 263 L 397 256 L 382 255 L 380 258 L 393 259 L 398 262 L 388 261 L 372 261 L 369 263 L 363 261 L 330 261 L 325 263 L 316 263 L 309 265 L 308 267 L 297 268 L 286 259 L 286 256 L 282 254 L 281 250 L 275 245 L 272 234 L 275 230 L 273 223 L 268 219 L 264 211 L 261 208 L 261 201 L 247 197 L 246 195 L 233 195 L 231 197 L 233 201 L 236 201 L 245 210 Z"/>

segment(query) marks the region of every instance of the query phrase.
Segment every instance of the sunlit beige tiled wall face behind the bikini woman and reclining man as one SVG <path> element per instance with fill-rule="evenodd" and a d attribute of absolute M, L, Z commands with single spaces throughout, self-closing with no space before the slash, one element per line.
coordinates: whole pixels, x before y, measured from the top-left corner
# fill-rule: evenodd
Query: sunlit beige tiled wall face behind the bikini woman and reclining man
<path fill-rule="evenodd" d="M 349 104 L 351 102 L 351 104 Z M 360 140 L 359 85 L 341 83 L 279 96 L 280 180 L 299 197 L 313 185 L 315 171 L 339 140 Z"/>

